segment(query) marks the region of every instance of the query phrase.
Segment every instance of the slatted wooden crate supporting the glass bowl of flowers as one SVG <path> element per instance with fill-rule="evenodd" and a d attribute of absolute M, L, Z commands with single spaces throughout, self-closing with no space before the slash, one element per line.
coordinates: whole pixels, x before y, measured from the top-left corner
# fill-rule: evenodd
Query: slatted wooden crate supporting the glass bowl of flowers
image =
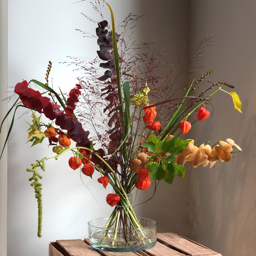
<path fill-rule="evenodd" d="M 139 252 L 105 252 L 92 249 L 88 238 L 57 240 L 49 244 L 49 256 L 222 256 L 185 237 L 174 233 L 157 234 L 156 246 Z"/>

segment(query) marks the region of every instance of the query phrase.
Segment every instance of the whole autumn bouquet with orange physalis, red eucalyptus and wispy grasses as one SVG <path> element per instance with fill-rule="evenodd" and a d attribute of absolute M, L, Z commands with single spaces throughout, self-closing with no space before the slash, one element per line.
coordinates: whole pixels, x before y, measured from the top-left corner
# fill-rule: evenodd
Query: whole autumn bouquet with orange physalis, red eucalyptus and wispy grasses
<path fill-rule="evenodd" d="M 145 190 L 157 180 L 172 184 L 175 175 L 184 177 L 186 162 L 192 168 L 199 165 L 211 168 L 216 161 L 228 162 L 232 158 L 234 147 L 238 151 L 242 150 L 232 139 L 227 139 L 226 142 L 220 140 L 210 146 L 207 143 L 196 145 L 194 140 L 182 140 L 182 135 L 180 136 L 192 129 L 191 119 L 195 122 L 203 121 L 210 116 L 206 107 L 211 96 L 217 92 L 228 93 L 233 99 L 234 107 L 241 112 L 241 102 L 236 92 L 227 92 L 220 87 L 234 86 L 218 81 L 196 94 L 199 85 L 202 86 L 205 78 L 213 72 L 210 70 L 188 85 L 181 85 L 181 94 L 173 97 L 172 86 L 177 79 L 169 82 L 162 74 L 156 76 L 152 73 L 153 68 L 159 67 L 162 54 L 149 56 L 147 44 L 141 44 L 140 47 L 132 45 L 133 50 L 139 51 L 137 63 L 135 60 L 126 60 L 125 50 L 118 51 L 117 45 L 122 47 L 125 41 L 122 34 L 116 33 L 113 12 L 109 5 L 108 7 L 112 31 L 108 30 L 106 20 L 99 22 L 96 28 L 99 45 L 97 61 L 104 61 L 99 65 L 100 68 L 107 69 L 104 75 L 97 77 L 92 68 L 83 66 L 93 78 L 92 82 L 79 79 L 68 95 L 61 90 L 58 93 L 48 84 L 52 69 L 52 62 L 49 61 L 46 83 L 32 79 L 29 83 L 24 80 L 16 84 L 14 92 L 19 98 L 5 116 L 6 118 L 12 109 L 19 106 L 31 109 L 33 122 L 29 124 L 28 141 L 34 146 L 47 138 L 54 153 L 53 156 L 32 163 L 32 167 L 27 169 L 32 173 L 29 181 L 32 182 L 38 202 L 39 237 L 42 226 L 42 184 L 39 182 L 42 176 L 39 171 L 45 170 L 44 163 L 48 159 L 66 157 L 69 159 L 67 164 L 73 170 L 80 168 L 85 176 L 97 179 L 104 188 L 112 186 L 113 193 L 106 196 L 106 201 L 111 207 L 116 207 L 109 218 L 108 228 L 141 228 L 127 194 L 134 189 Z M 132 23 L 137 17 L 129 15 L 124 29 L 128 27 L 127 20 Z M 208 40 L 202 40 L 199 49 Z M 198 55 L 200 54 L 193 54 L 185 64 Z M 141 62 L 146 63 L 146 59 L 148 66 L 140 68 Z M 82 66 L 81 62 L 76 62 L 76 65 Z M 32 84 L 39 86 L 41 92 L 31 88 Z M 211 92 L 213 88 L 215 90 Z M 77 108 L 79 103 L 81 105 Z M 91 111 L 87 115 L 89 122 L 88 119 L 85 120 L 84 114 L 88 106 Z M 47 123 L 40 121 L 41 115 L 48 119 Z M 101 125 L 95 121 L 97 118 Z M 13 122 L 14 115 L 5 144 Z M 86 125 L 94 128 L 95 137 L 86 129 Z M 97 146 L 99 143 L 100 147 Z"/>

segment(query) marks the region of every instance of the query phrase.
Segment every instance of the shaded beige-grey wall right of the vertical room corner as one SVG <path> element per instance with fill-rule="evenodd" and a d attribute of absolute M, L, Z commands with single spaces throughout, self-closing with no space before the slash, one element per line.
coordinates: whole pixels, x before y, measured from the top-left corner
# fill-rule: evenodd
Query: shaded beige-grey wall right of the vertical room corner
<path fill-rule="evenodd" d="M 190 171 L 189 236 L 225 256 L 256 251 L 255 8 L 254 1 L 190 2 L 193 46 L 204 36 L 217 35 L 196 64 L 214 69 L 209 80 L 234 85 L 227 89 L 236 91 L 242 101 L 240 114 L 228 94 L 215 94 L 212 119 L 199 122 L 189 134 L 212 144 L 232 138 L 244 150 L 214 169 Z"/>

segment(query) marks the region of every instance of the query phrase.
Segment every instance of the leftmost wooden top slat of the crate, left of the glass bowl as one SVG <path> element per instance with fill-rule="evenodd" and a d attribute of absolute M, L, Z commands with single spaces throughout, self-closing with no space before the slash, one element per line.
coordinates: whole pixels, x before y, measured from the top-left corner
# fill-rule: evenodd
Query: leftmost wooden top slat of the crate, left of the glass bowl
<path fill-rule="evenodd" d="M 70 256 L 99 256 L 98 252 L 81 239 L 56 240 L 56 242 L 60 244 Z"/>

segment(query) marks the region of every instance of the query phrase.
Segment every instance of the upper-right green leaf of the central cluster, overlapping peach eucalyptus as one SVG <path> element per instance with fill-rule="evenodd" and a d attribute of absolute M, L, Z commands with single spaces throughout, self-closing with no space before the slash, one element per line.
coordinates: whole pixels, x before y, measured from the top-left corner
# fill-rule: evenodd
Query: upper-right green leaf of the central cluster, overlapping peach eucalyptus
<path fill-rule="evenodd" d="M 172 137 L 171 140 L 165 140 L 163 142 L 161 149 L 166 153 L 175 153 L 175 155 L 178 155 L 188 146 L 190 141 L 191 140 L 182 140 L 178 137 Z"/>

